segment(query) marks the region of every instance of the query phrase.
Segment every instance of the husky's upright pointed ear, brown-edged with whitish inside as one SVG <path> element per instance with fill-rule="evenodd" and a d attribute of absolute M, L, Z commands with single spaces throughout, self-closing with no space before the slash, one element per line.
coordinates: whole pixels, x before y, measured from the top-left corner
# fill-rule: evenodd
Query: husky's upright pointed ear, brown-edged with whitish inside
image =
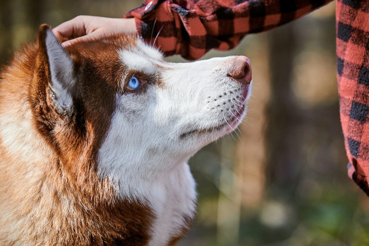
<path fill-rule="evenodd" d="M 68 114 L 73 108 L 72 91 L 76 85 L 73 60 L 49 25 L 44 24 L 39 28 L 38 44 L 48 83 L 48 104 L 54 104 L 52 106 L 59 114 Z"/>

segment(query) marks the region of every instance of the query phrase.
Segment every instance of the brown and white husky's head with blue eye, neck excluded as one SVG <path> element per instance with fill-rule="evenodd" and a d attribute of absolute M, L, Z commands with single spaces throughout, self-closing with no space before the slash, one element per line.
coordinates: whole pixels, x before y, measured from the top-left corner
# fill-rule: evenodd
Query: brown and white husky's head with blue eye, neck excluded
<path fill-rule="evenodd" d="M 135 36 L 64 49 L 39 30 L 31 86 L 38 130 L 61 163 L 115 179 L 152 179 L 234 130 L 246 113 L 245 56 L 169 63 Z"/>

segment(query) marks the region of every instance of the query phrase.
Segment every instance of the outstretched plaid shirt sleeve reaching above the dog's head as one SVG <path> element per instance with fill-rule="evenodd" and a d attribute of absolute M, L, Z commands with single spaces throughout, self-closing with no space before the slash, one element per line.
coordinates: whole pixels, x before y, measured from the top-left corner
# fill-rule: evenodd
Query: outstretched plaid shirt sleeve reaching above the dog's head
<path fill-rule="evenodd" d="M 295 20 L 332 0 L 145 0 L 128 12 L 138 33 L 165 55 L 200 58 L 234 48 L 248 33 Z"/>

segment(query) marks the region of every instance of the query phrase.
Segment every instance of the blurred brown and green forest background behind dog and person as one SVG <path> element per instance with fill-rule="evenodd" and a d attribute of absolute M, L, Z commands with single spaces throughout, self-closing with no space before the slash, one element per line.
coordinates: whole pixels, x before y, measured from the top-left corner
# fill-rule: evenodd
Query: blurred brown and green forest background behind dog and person
<path fill-rule="evenodd" d="M 0 59 L 38 26 L 122 17 L 141 0 L 0 0 Z M 339 122 L 335 3 L 228 52 L 251 59 L 254 88 L 236 132 L 190 160 L 199 206 L 180 246 L 369 245 L 369 198 L 346 175 Z M 186 62 L 173 56 L 167 60 Z"/>

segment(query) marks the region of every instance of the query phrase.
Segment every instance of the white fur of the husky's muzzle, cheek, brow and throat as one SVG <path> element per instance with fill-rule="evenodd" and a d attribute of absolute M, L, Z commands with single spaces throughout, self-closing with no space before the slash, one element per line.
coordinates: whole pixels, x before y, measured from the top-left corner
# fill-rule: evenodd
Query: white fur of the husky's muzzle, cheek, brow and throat
<path fill-rule="evenodd" d="M 164 85 L 149 82 L 144 93 L 117 94 L 98 156 L 100 175 L 110 177 L 119 197 L 149 202 L 156 216 L 150 246 L 165 245 L 184 224 L 182 216 L 193 217 L 196 191 L 188 159 L 237 127 L 246 108 L 238 119 L 234 115 L 247 100 L 240 96 L 244 86 L 227 76 L 233 57 L 176 64 L 155 51 L 139 43 L 120 53 L 128 68 L 156 74 Z"/>

